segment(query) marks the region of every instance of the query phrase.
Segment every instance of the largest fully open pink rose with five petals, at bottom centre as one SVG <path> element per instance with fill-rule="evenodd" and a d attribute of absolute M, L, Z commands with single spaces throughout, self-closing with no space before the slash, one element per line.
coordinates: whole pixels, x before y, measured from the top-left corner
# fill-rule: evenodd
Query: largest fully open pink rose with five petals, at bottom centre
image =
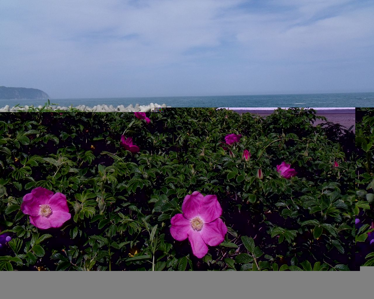
<path fill-rule="evenodd" d="M 224 241 L 227 227 L 219 218 L 222 208 L 216 195 L 195 191 L 184 198 L 182 212 L 171 218 L 170 233 L 177 241 L 188 238 L 194 256 L 201 259 L 208 253 L 207 244 L 217 246 Z"/>

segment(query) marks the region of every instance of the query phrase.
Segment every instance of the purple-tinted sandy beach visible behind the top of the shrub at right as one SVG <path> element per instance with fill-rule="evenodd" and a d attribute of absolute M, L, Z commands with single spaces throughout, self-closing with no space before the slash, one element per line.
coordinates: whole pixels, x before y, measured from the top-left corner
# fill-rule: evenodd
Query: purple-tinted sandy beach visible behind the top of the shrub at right
<path fill-rule="evenodd" d="M 261 116 L 267 116 L 273 113 L 272 110 L 234 110 L 239 114 L 243 114 L 246 112 L 252 114 L 258 114 Z M 350 126 L 353 126 L 353 131 L 355 132 L 355 110 L 354 109 L 331 109 L 331 110 L 316 110 L 316 115 L 324 116 L 327 118 L 327 121 L 331 121 L 332 123 L 338 123 L 342 126 L 349 129 Z M 317 120 L 315 121 L 314 125 L 318 125 L 323 123 L 324 121 Z"/>

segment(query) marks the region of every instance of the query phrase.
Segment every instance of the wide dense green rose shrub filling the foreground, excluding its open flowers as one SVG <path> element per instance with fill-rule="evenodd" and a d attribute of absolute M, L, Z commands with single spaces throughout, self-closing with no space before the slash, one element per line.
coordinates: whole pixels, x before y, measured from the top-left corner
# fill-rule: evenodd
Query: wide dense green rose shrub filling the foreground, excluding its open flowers
<path fill-rule="evenodd" d="M 147 116 L 150 123 L 74 109 L 0 115 L 0 229 L 12 237 L 0 248 L 0 268 L 354 269 L 355 164 L 311 124 L 314 110 L 263 118 L 167 108 Z M 122 134 L 139 153 L 120 145 Z M 228 134 L 242 137 L 223 144 Z M 279 175 L 283 161 L 296 176 Z M 60 228 L 38 229 L 22 213 L 36 187 L 66 196 L 72 216 Z M 201 259 L 170 233 L 194 191 L 217 195 L 228 228 Z"/>

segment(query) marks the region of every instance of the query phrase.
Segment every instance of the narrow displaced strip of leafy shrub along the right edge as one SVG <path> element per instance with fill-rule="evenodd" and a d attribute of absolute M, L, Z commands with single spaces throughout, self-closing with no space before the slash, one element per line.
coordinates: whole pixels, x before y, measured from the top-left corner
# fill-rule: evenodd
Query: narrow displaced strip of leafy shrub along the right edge
<path fill-rule="evenodd" d="M 356 110 L 356 264 L 374 266 L 374 109 Z"/>

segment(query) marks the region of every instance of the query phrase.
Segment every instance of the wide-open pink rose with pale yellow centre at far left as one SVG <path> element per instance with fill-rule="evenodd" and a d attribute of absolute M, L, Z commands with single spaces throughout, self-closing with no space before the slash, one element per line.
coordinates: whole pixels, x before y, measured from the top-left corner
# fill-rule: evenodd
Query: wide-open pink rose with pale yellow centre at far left
<path fill-rule="evenodd" d="M 60 227 L 71 218 L 66 196 L 37 187 L 23 198 L 21 210 L 30 215 L 30 223 L 37 228 Z"/>

